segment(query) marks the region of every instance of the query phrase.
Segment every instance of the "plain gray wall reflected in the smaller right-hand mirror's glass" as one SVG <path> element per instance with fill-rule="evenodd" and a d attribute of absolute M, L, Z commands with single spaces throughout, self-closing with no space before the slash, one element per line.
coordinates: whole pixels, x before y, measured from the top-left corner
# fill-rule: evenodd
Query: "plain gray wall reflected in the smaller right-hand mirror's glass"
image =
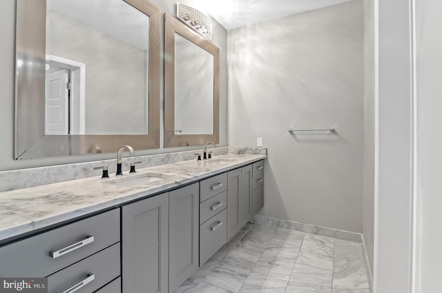
<path fill-rule="evenodd" d="M 213 55 L 175 40 L 175 134 L 213 134 Z"/>

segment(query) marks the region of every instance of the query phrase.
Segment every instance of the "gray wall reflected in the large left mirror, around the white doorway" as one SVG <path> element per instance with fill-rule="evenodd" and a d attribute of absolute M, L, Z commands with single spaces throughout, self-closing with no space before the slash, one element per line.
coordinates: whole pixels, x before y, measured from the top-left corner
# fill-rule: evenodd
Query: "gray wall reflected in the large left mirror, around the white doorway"
<path fill-rule="evenodd" d="M 48 13 L 46 54 L 86 63 L 86 134 L 146 134 L 147 52 Z"/>

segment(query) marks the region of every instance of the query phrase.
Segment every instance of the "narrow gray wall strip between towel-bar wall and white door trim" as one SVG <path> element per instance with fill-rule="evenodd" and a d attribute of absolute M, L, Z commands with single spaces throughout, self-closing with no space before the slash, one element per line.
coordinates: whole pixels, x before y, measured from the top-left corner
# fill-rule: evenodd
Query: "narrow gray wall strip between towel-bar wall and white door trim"
<path fill-rule="evenodd" d="M 370 269 L 374 250 L 374 0 L 364 0 L 364 144 L 362 232 Z"/>

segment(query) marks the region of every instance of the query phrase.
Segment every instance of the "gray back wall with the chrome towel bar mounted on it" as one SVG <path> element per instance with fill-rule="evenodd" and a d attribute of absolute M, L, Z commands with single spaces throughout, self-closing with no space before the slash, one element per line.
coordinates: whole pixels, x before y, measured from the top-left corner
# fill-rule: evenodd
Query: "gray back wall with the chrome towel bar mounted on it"
<path fill-rule="evenodd" d="M 229 145 L 268 150 L 260 214 L 362 232 L 363 1 L 230 30 L 228 50 Z"/>

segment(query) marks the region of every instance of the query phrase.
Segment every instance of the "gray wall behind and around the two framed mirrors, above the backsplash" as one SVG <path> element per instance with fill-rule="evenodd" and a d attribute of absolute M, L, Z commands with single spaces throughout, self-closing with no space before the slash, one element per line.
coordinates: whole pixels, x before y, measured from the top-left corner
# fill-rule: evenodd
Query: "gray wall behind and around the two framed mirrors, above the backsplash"
<path fill-rule="evenodd" d="M 102 159 L 112 159 L 115 154 L 91 154 L 87 156 L 65 156 L 52 157 L 46 159 L 32 159 L 15 161 L 14 156 L 14 70 L 15 70 L 15 2 L 16 0 L 4 0 L 0 10 L 0 136 L 3 143 L 0 145 L 0 171 L 16 170 L 22 168 L 32 168 L 44 165 L 59 165 L 66 163 L 77 163 L 84 161 L 96 161 Z M 176 1 L 173 0 L 153 0 L 160 6 L 162 12 L 167 12 L 173 16 L 176 14 Z M 180 1 L 186 4 L 187 1 Z M 163 23 L 163 22 L 162 22 Z M 163 26 L 163 24 L 162 24 Z M 163 34 L 161 34 L 163 41 Z M 213 21 L 212 43 L 220 48 L 220 143 L 227 145 L 227 30 L 219 23 Z M 160 72 L 161 84 L 163 84 L 163 69 Z M 164 101 L 163 87 L 161 87 L 161 100 Z M 162 113 L 163 117 L 163 113 Z M 161 119 L 163 121 L 163 119 Z M 163 123 L 163 122 L 162 122 Z M 163 124 L 162 128 L 163 129 Z M 163 132 L 162 132 L 163 143 Z M 198 147 L 188 148 L 160 148 L 157 150 L 140 150 L 137 155 L 157 154 L 162 152 L 174 152 L 177 150 L 193 150 Z"/>

